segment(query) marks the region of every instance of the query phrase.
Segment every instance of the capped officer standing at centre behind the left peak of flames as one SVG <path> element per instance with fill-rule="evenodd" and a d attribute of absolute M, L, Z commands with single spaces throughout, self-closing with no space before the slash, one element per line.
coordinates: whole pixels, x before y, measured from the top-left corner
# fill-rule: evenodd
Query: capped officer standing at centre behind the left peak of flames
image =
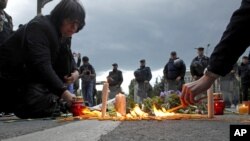
<path fill-rule="evenodd" d="M 143 99 L 148 97 L 148 91 L 150 88 L 149 81 L 152 79 L 152 73 L 150 67 L 146 67 L 146 61 L 140 60 L 140 68 L 134 72 L 135 87 L 134 87 L 134 101 L 136 103 L 142 103 Z"/>

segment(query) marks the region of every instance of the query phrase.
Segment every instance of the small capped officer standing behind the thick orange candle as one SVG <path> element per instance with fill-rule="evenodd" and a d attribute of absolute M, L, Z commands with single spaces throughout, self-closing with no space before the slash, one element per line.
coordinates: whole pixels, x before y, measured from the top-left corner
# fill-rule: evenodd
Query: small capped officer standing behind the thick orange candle
<path fill-rule="evenodd" d="M 122 71 L 118 70 L 118 64 L 112 64 L 113 70 L 109 72 L 107 77 L 109 83 L 109 99 L 115 97 L 116 94 L 121 92 L 121 84 L 123 82 Z"/>

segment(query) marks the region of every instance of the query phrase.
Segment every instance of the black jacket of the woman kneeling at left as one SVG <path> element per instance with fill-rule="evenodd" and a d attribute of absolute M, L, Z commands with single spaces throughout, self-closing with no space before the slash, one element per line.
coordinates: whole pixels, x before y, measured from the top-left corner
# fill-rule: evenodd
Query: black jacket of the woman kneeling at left
<path fill-rule="evenodd" d="M 43 84 L 52 93 L 61 96 L 66 86 L 57 70 L 67 68 L 58 68 L 63 66 L 59 64 L 66 62 L 61 62 L 59 59 L 62 38 L 57 29 L 49 16 L 38 16 L 27 26 L 17 30 L 0 47 L 0 72 L 15 75 L 21 71 L 22 82 L 25 82 L 22 83 L 23 87 L 28 87 L 29 84 Z M 20 67 L 23 63 L 25 70 Z"/>

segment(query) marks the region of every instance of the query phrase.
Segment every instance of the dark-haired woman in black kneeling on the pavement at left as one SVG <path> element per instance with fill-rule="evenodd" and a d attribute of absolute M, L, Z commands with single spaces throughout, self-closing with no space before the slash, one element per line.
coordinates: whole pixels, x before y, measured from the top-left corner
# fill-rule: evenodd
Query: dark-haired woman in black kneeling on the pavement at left
<path fill-rule="evenodd" d="M 71 106 L 75 96 L 67 84 L 79 73 L 70 41 L 84 25 L 82 4 L 62 0 L 50 15 L 35 17 L 0 46 L 0 111 L 42 118 Z"/>

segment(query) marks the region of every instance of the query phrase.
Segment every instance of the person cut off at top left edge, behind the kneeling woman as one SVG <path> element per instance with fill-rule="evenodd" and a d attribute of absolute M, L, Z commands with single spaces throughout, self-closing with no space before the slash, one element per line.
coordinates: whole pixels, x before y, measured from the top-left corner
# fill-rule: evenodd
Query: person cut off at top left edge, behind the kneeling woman
<path fill-rule="evenodd" d="M 12 18 L 4 11 L 7 3 L 8 0 L 0 0 L 0 45 L 13 32 Z"/>

